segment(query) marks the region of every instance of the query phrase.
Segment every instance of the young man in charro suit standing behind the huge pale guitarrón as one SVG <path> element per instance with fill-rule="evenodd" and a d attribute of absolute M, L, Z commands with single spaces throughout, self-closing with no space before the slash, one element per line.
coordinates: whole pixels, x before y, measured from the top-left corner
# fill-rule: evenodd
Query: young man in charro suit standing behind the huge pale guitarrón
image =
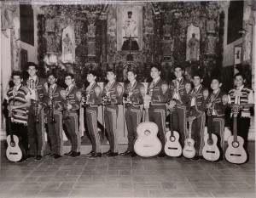
<path fill-rule="evenodd" d="M 148 109 L 149 122 L 154 122 L 159 128 L 159 137 L 162 150 L 158 157 L 165 157 L 166 144 L 166 102 L 168 101 L 168 83 L 160 78 L 160 67 L 152 66 L 150 76 L 153 81 L 148 84 L 147 94 L 151 96 L 151 103 Z"/>

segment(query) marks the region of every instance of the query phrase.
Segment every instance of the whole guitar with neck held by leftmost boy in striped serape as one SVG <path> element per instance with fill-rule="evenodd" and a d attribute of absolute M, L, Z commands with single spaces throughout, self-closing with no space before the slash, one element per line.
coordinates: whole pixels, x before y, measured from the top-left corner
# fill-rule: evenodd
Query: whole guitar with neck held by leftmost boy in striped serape
<path fill-rule="evenodd" d="M 7 136 L 8 147 L 6 149 L 6 157 L 9 161 L 20 161 L 24 155 L 22 146 L 19 144 L 19 138 L 13 134 L 12 125 L 11 125 L 12 111 L 9 110 L 9 136 Z"/>

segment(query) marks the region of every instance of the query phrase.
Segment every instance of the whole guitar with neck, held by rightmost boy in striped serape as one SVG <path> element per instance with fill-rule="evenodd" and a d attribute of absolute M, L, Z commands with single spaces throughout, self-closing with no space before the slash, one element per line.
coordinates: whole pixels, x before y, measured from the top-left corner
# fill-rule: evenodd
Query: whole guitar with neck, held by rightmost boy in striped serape
<path fill-rule="evenodd" d="M 243 148 L 244 140 L 237 135 L 237 114 L 239 109 L 233 107 L 233 133 L 228 138 L 228 148 L 225 152 L 225 158 L 230 163 L 242 164 L 247 161 L 247 152 Z"/>

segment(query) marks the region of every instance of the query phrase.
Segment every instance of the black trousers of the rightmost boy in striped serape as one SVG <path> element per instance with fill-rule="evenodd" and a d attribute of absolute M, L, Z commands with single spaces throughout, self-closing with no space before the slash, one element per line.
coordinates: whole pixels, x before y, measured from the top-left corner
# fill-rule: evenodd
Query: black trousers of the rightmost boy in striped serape
<path fill-rule="evenodd" d="M 251 119 L 249 117 L 241 117 L 240 115 L 237 116 L 237 135 L 241 136 L 241 138 L 244 140 L 243 148 L 245 150 L 247 150 L 250 121 Z M 234 134 L 233 118 L 231 119 L 231 132 Z"/>

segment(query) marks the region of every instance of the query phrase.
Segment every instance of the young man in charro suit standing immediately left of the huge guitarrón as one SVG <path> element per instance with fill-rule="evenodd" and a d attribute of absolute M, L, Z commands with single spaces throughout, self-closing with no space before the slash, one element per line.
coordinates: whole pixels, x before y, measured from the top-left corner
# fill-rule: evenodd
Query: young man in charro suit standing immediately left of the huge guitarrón
<path fill-rule="evenodd" d="M 137 156 L 134 152 L 134 142 L 137 137 L 137 126 L 141 122 L 141 108 L 143 104 L 143 95 L 145 88 L 143 83 L 137 82 L 137 73 L 134 70 L 127 71 L 127 78 L 130 83 L 125 84 L 124 105 L 125 105 L 125 120 L 128 130 L 128 148 L 123 156 Z"/>

